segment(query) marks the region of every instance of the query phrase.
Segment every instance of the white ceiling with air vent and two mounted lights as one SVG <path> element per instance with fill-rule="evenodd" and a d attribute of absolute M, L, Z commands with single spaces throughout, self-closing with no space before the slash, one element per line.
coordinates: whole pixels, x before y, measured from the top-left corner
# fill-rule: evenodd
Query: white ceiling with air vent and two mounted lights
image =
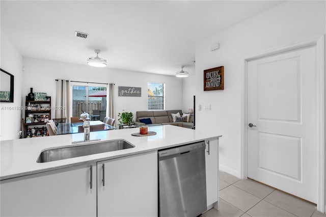
<path fill-rule="evenodd" d="M 1 1 L 1 31 L 23 57 L 86 64 L 100 49 L 109 68 L 173 75 L 185 65 L 193 74 L 198 40 L 279 3 Z"/>

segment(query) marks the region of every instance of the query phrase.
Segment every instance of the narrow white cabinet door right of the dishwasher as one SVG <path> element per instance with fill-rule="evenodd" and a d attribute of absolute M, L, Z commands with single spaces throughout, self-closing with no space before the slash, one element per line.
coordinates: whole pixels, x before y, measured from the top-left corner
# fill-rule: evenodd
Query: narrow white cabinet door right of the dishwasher
<path fill-rule="evenodd" d="M 206 192 L 208 209 L 218 209 L 219 200 L 219 139 L 206 141 Z"/>

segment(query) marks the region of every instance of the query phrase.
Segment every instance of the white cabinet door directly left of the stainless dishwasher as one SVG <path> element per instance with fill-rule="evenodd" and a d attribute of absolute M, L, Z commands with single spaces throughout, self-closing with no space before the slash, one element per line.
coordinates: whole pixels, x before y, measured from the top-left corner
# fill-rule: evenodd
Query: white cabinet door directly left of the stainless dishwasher
<path fill-rule="evenodd" d="M 97 216 L 157 216 L 157 176 L 157 151 L 97 162 Z"/>

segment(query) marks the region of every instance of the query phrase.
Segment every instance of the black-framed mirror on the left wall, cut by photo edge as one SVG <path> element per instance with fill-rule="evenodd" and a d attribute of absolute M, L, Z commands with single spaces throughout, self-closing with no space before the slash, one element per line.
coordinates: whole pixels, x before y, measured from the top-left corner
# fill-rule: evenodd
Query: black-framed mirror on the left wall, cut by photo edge
<path fill-rule="evenodd" d="M 0 102 L 14 102 L 14 75 L 0 68 Z"/>

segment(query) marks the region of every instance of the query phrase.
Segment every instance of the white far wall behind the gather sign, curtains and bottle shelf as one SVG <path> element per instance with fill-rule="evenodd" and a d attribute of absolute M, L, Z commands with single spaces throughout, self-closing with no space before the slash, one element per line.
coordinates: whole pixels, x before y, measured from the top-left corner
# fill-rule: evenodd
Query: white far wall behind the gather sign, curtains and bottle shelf
<path fill-rule="evenodd" d="M 182 107 L 182 79 L 175 76 L 150 74 L 110 68 L 95 68 L 55 61 L 23 58 L 23 101 L 33 88 L 33 92 L 45 92 L 51 96 L 52 105 L 56 102 L 55 79 L 70 79 L 80 82 L 114 83 L 115 84 L 115 114 L 122 110 L 134 113 L 147 110 L 147 82 L 162 82 L 166 84 L 166 109 L 174 110 Z M 118 86 L 141 87 L 141 97 L 118 96 Z M 54 118 L 52 112 L 51 117 Z M 116 116 L 116 120 L 118 117 Z"/>

